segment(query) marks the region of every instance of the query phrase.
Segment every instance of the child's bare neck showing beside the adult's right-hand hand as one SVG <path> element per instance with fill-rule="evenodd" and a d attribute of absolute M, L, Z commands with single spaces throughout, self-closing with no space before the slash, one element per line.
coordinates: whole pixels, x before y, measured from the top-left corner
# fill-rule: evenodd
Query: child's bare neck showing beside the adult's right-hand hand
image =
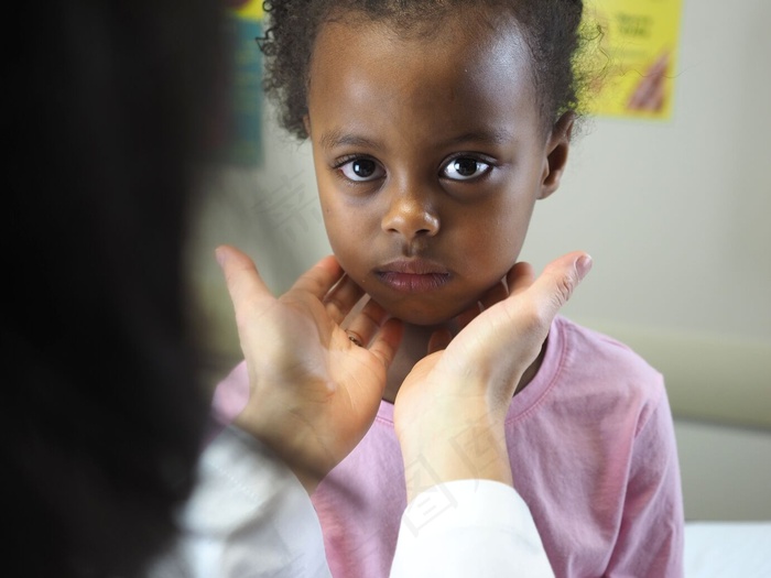
<path fill-rule="evenodd" d="M 404 324 L 404 334 L 402 337 L 401 346 L 399 347 L 397 356 L 393 359 L 393 362 L 391 363 L 391 367 L 388 371 L 386 391 L 383 392 L 383 400 L 393 403 L 393 401 L 397 399 L 397 393 L 399 393 L 399 388 L 401 388 L 401 384 L 404 381 L 404 378 L 406 378 L 408 373 L 412 371 L 412 368 L 415 366 L 415 363 L 417 363 L 421 359 L 423 359 L 426 356 L 426 352 L 428 351 L 428 339 L 431 339 L 431 335 L 435 330 L 442 328 L 449 329 L 453 336 L 455 336 L 457 332 L 457 329 L 450 324 L 431 327 Z M 544 342 L 543 347 L 541 348 L 541 353 L 535 359 L 535 361 L 522 374 L 522 378 L 520 379 L 520 382 L 517 385 L 514 395 L 522 391 L 525 388 L 525 385 L 528 385 L 528 383 L 530 383 L 535 377 L 535 374 L 539 371 L 539 368 L 541 367 L 541 362 L 543 361 L 543 356 L 545 351 L 546 342 Z"/>

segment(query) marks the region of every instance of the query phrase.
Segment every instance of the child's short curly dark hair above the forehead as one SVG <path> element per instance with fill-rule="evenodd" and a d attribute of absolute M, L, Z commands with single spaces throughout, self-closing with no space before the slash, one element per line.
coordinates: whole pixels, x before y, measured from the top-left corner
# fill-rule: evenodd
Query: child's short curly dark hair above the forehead
<path fill-rule="evenodd" d="M 269 25 L 257 39 L 265 56 L 263 87 L 276 105 L 279 123 L 300 140 L 308 135 L 303 118 L 316 36 L 324 23 L 350 15 L 387 23 L 399 34 L 427 32 L 458 10 L 492 26 L 508 15 L 528 43 L 544 129 L 563 113 L 579 111 L 582 0 L 267 0 L 263 6 Z"/>

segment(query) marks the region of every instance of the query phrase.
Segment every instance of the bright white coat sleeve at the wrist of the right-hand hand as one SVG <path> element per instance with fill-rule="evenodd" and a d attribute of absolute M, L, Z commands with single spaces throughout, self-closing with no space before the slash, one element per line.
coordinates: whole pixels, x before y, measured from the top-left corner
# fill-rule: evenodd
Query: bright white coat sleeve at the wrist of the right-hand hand
<path fill-rule="evenodd" d="M 441 483 L 402 515 L 391 578 L 554 577 L 528 505 L 491 480 Z"/>

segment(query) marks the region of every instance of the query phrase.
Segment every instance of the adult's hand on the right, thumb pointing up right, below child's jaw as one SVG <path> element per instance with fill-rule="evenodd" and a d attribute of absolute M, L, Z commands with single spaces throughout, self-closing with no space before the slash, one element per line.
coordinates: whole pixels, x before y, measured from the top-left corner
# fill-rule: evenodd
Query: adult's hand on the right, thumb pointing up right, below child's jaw
<path fill-rule="evenodd" d="M 534 280 L 532 268 L 518 263 L 506 285 L 482 297 L 484 312 L 461 316 L 467 325 L 452 341 L 434 334 L 430 355 L 415 364 L 394 402 L 408 499 L 457 479 L 512 483 L 507 410 L 552 320 L 590 266 L 586 253 L 574 252 Z"/>

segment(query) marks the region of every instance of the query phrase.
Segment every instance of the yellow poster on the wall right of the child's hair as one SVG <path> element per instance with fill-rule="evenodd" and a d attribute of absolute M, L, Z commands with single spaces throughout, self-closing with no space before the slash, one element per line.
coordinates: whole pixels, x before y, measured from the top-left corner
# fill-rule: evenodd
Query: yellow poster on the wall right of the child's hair
<path fill-rule="evenodd" d="M 590 113 L 666 120 L 672 116 L 682 0 L 591 0 L 601 69 L 586 95 Z"/>

